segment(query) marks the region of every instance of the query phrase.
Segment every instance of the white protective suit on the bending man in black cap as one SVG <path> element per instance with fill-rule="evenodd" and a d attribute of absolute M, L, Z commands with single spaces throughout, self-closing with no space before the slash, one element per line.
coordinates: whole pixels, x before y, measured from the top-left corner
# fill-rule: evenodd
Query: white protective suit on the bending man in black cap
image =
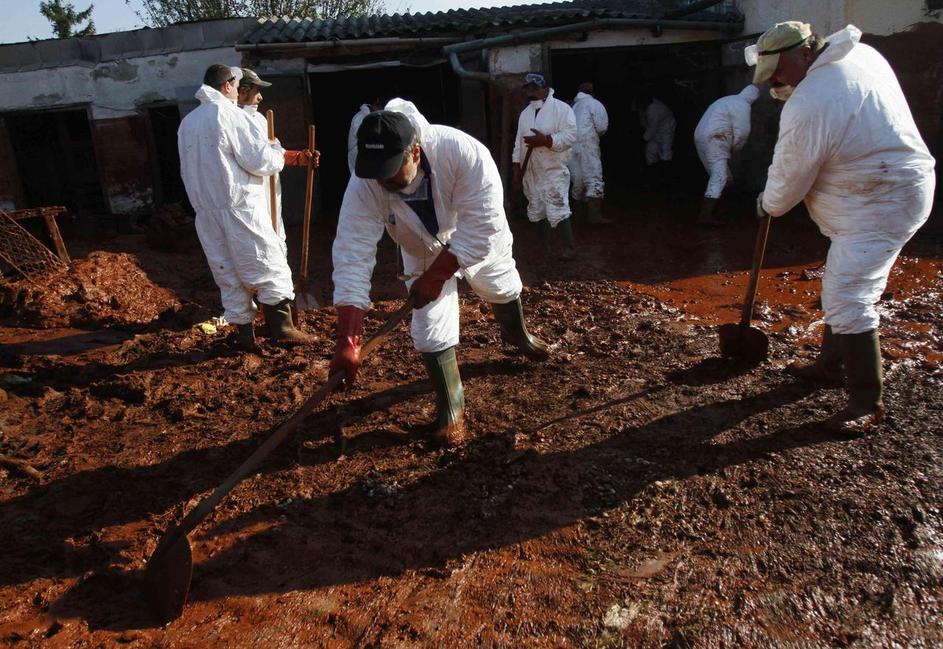
<path fill-rule="evenodd" d="M 334 304 L 369 308 L 370 277 L 384 228 L 402 251 L 407 287 L 448 244 L 458 259 L 458 275 L 483 300 L 506 304 L 517 299 L 522 286 L 511 255 L 504 189 L 487 147 L 458 129 L 429 124 L 410 101 L 393 99 L 385 110 L 405 114 L 419 132 L 430 166 L 439 232 L 430 234 L 399 193 L 388 192 L 375 180 L 352 176 L 334 239 Z M 458 324 L 458 287 L 452 277 L 438 299 L 413 311 L 416 349 L 438 352 L 454 347 Z"/>

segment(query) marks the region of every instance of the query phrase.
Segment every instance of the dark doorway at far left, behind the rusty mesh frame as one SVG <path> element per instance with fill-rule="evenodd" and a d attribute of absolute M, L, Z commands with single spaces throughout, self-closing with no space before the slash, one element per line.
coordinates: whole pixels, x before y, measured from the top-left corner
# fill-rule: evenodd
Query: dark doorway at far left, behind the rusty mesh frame
<path fill-rule="evenodd" d="M 107 211 L 85 109 L 6 116 L 26 207 Z"/>

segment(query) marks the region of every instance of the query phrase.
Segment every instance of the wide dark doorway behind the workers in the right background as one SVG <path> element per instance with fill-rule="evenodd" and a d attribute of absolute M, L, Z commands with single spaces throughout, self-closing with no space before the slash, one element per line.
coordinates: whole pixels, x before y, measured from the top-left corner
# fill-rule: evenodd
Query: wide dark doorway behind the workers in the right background
<path fill-rule="evenodd" d="M 554 51 L 551 58 L 556 96 L 572 101 L 577 85 L 592 81 L 609 113 L 609 132 L 602 140 L 607 187 L 637 187 L 643 174 L 644 142 L 635 99 L 651 88 L 677 120 L 674 175 L 678 189 L 702 192 L 707 174 L 694 148 L 694 128 L 704 110 L 724 94 L 720 47 L 684 43 L 625 48 Z"/>

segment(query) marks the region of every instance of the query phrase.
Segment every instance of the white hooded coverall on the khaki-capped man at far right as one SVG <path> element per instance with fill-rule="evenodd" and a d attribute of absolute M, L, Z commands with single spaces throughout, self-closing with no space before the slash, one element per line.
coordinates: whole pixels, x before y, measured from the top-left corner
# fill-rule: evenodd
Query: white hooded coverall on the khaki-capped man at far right
<path fill-rule="evenodd" d="M 762 195 L 771 216 L 805 199 L 831 239 L 822 308 L 836 334 L 877 328 L 875 303 L 936 183 L 893 70 L 860 37 L 853 25 L 829 36 L 786 102 Z"/>

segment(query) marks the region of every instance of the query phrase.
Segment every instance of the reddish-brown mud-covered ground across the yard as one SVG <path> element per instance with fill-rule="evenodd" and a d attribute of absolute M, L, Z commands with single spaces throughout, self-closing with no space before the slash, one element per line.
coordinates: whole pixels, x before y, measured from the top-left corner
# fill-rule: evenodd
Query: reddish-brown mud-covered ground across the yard
<path fill-rule="evenodd" d="M 570 264 L 539 263 L 515 221 L 552 359 L 514 355 L 464 295 L 470 439 L 436 449 L 401 327 L 191 536 L 190 602 L 166 627 L 139 596 L 147 557 L 325 380 L 333 310 L 304 314 L 314 347 L 234 352 L 190 326 L 219 315 L 195 240 L 70 242 L 130 254 L 176 307 L 0 327 L 0 642 L 939 646 L 941 229 L 908 246 L 882 301 L 888 419 L 846 439 L 821 425 L 842 392 L 782 371 L 814 353 L 825 241 L 804 217 L 774 224 L 756 310 L 771 357 L 740 367 L 715 325 L 738 316 L 754 225 L 700 230 L 674 202 L 614 202 L 618 223 L 578 227 Z M 315 235 L 327 293 L 330 226 Z M 393 252 L 368 332 L 403 295 Z"/>

